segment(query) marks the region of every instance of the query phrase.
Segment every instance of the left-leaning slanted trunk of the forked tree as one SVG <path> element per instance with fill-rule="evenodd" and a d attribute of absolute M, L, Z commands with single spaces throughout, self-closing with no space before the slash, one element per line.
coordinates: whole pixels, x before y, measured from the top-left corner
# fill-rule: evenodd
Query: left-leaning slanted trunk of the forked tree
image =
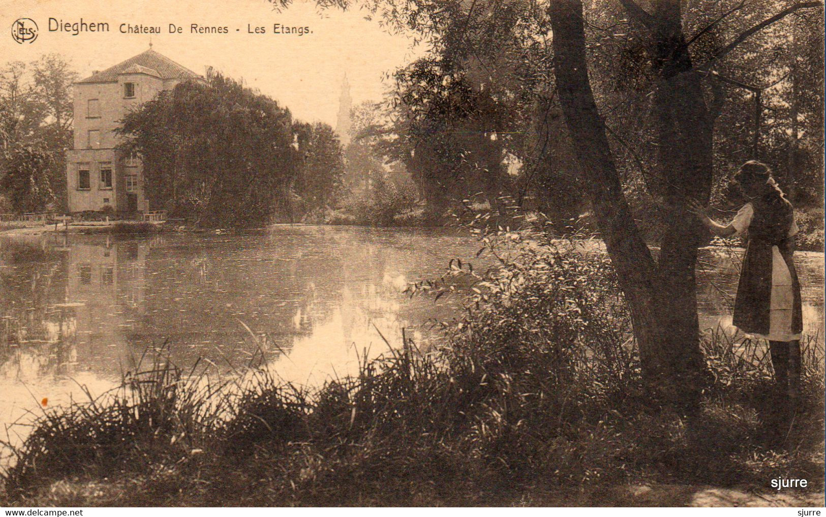
<path fill-rule="evenodd" d="M 660 304 L 668 296 L 662 293 L 657 265 L 625 201 L 605 135 L 605 122 L 596 109 L 587 73 L 582 2 L 554 0 L 548 15 L 553 29 L 553 67 L 559 100 L 605 247 L 629 303 L 643 379 L 654 394 L 673 400 L 679 398 L 679 385 L 674 378 L 672 354 L 667 353 L 665 344 L 673 333 L 669 322 L 673 324 L 675 318 L 666 318 L 666 311 L 661 310 Z M 680 265 L 685 267 L 686 263 Z M 691 275 L 693 280 L 693 270 Z M 694 321 L 696 317 L 695 311 Z M 691 327 L 690 322 L 680 324 Z"/>

